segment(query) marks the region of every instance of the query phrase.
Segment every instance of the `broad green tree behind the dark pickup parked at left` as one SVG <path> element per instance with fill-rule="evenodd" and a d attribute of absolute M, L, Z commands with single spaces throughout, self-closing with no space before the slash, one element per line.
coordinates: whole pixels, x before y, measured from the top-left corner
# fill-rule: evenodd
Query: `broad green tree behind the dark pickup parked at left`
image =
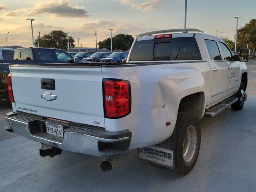
<path fill-rule="evenodd" d="M 69 47 L 73 48 L 74 45 L 74 38 L 72 36 L 68 36 L 62 30 L 53 30 L 49 34 L 44 34 L 39 39 L 39 46 L 46 47 L 46 48 L 58 48 L 62 50 L 68 49 L 68 41 Z M 35 40 L 35 46 L 38 46 L 37 39 Z"/>

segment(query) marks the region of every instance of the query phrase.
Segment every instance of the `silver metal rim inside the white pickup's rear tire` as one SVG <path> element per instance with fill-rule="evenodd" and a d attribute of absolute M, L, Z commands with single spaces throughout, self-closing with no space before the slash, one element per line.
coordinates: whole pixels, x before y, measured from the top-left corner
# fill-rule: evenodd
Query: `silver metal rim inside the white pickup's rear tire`
<path fill-rule="evenodd" d="M 186 130 L 183 140 L 183 158 L 186 163 L 189 163 L 194 157 L 196 151 L 196 143 L 196 128 L 194 126 L 189 126 Z"/>

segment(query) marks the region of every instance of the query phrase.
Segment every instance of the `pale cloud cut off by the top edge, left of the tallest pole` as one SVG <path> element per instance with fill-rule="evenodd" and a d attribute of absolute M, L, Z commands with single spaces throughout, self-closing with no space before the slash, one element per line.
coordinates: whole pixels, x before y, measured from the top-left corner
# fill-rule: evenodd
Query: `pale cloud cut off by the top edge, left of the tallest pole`
<path fill-rule="evenodd" d="M 163 0 L 152 0 L 152 2 L 143 2 L 140 4 L 134 4 L 134 2 L 130 0 L 121 0 L 122 4 L 128 4 L 132 8 L 143 10 L 144 12 L 159 8 L 159 4 L 161 4 L 162 2 Z"/>

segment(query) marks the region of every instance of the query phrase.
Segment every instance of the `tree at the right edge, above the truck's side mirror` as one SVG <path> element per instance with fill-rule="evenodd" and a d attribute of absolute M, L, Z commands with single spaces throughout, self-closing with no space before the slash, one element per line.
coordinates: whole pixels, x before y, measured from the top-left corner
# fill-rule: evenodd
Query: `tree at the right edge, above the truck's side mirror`
<path fill-rule="evenodd" d="M 251 19 L 244 27 L 237 30 L 237 42 L 243 45 L 243 48 L 248 44 L 249 48 L 252 48 L 252 56 L 254 57 L 256 48 L 256 19 Z"/>

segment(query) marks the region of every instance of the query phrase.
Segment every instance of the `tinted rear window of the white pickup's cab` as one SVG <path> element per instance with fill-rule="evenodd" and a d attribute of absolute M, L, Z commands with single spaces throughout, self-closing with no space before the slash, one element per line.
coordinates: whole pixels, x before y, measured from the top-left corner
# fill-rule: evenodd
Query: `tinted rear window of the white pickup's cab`
<path fill-rule="evenodd" d="M 166 38 L 168 42 L 156 40 L 136 41 L 130 61 L 157 60 L 201 60 L 198 44 L 194 37 Z"/>

